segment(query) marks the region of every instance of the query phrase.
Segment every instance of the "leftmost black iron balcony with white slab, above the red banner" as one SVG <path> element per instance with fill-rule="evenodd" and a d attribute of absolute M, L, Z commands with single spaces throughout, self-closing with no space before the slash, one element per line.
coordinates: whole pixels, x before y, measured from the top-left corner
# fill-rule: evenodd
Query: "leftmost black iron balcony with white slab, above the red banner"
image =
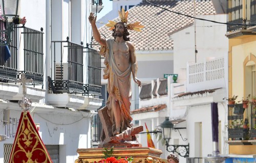
<path fill-rule="evenodd" d="M 0 20 L 0 30 L 5 29 L 5 22 Z M 33 101 L 45 97 L 44 87 L 44 50 L 41 31 L 27 28 L 26 26 L 14 26 L 9 45 L 0 46 L 0 94 L 8 100 L 19 100 L 23 96 L 20 80 L 22 73 L 26 78 L 33 79 L 32 85 L 27 88 L 27 96 Z M 5 34 L 1 33 L 1 40 L 5 41 Z"/>

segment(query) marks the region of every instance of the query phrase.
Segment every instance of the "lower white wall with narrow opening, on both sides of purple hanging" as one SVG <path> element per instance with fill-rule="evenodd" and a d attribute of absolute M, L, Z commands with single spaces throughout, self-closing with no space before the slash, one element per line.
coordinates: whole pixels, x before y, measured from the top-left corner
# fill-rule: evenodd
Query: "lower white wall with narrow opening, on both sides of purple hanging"
<path fill-rule="evenodd" d="M 227 129 L 226 129 L 226 118 L 227 118 L 227 108 L 226 103 L 218 103 L 218 113 L 219 113 L 219 121 L 221 121 L 221 130 L 222 130 L 222 142 L 221 143 L 221 151 L 222 154 L 227 152 L 227 145 L 225 141 L 227 141 Z M 212 154 L 212 130 L 211 130 L 211 106 L 201 105 L 201 106 L 193 106 L 188 109 L 187 114 L 187 138 L 189 142 L 189 157 L 200 157 L 198 146 L 199 144 L 195 144 L 197 135 L 195 133 L 196 123 L 202 122 L 202 148 L 203 148 L 203 157 L 207 156 L 207 154 Z M 227 154 L 227 153 L 226 153 Z"/>

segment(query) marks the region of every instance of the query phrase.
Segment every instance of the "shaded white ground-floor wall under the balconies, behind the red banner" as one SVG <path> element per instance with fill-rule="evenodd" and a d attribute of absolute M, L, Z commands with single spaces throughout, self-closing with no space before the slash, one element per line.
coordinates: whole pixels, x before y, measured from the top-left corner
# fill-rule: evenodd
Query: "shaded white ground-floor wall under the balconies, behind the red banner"
<path fill-rule="evenodd" d="M 10 111 L 11 118 L 20 118 L 21 110 L 17 105 L 17 111 Z M 34 123 L 40 124 L 39 134 L 45 145 L 60 145 L 59 158 L 60 162 L 74 162 L 78 157 L 77 148 L 91 148 L 91 126 L 90 116 L 88 113 L 82 113 L 82 116 L 63 116 L 54 114 L 31 113 Z M 88 114 L 90 115 L 90 114 Z M 3 119 L 3 110 L 0 110 L 0 120 Z M 85 125 L 86 124 L 86 125 Z M 10 124 L 10 132 L 16 132 L 16 126 Z M 0 122 L 0 134 L 10 135 L 7 133 L 8 125 Z M 14 135 L 15 136 L 15 135 Z M 10 137 L 0 142 L 0 151 L 4 151 L 4 144 L 13 144 L 14 137 Z M 4 152 L 0 152 L 0 162 L 3 160 Z"/>

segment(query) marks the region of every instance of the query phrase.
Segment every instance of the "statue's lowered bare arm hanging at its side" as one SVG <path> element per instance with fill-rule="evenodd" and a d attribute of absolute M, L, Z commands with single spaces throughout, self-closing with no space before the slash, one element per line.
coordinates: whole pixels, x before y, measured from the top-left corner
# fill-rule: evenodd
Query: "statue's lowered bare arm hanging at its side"
<path fill-rule="evenodd" d="M 132 69 L 132 74 L 133 74 L 133 80 L 135 83 L 138 84 L 138 86 L 141 86 L 140 80 L 137 78 L 137 71 L 138 71 L 138 64 L 136 60 L 136 55 L 135 55 L 135 47 L 133 43 L 130 41 L 127 41 L 126 44 L 129 46 L 129 52 L 130 52 L 130 60 L 131 60 L 131 69 Z"/>

